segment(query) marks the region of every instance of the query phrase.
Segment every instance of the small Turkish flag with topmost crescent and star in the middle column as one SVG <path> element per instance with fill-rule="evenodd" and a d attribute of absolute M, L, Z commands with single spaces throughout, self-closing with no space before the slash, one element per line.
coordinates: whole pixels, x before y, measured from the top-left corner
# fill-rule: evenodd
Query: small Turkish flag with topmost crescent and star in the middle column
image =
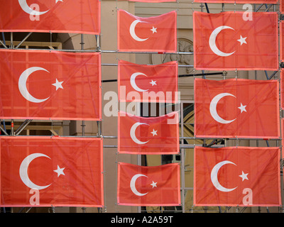
<path fill-rule="evenodd" d="M 177 51 L 177 12 L 142 18 L 124 10 L 117 12 L 119 51 Z"/>

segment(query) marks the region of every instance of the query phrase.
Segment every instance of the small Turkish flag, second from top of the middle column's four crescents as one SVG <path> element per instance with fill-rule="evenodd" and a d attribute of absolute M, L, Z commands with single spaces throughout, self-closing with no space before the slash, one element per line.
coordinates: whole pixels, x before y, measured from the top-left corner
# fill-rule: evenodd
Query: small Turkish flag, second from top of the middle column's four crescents
<path fill-rule="evenodd" d="M 136 65 L 119 60 L 120 101 L 178 102 L 178 62 Z"/>

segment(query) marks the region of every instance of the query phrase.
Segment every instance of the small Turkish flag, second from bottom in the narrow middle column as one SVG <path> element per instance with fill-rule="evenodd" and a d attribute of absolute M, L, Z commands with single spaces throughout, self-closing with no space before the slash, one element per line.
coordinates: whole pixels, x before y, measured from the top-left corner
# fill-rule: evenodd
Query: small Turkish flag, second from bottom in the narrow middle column
<path fill-rule="evenodd" d="M 178 154 L 178 112 L 158 117 L 141 117 L 119 112 L 118 153 Z"/>

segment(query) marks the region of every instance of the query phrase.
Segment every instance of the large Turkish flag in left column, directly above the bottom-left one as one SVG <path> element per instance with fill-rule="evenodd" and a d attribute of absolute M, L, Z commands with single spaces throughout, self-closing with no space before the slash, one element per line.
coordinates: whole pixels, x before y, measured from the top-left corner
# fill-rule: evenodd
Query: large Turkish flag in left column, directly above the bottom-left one
<path fill-rule="evenodd" d="M 36 50 L 0 51 L 0 118 L 99 120 L 101 56 Z"/>

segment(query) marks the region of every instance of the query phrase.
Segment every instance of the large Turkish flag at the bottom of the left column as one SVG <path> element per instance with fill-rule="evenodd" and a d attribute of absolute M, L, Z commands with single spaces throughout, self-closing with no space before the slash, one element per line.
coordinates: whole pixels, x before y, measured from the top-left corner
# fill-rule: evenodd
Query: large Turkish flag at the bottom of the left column
<path fill-rule="evenodd" d="M 101 138 L 1 136 L 0 206 L 104 206 Z"/>

